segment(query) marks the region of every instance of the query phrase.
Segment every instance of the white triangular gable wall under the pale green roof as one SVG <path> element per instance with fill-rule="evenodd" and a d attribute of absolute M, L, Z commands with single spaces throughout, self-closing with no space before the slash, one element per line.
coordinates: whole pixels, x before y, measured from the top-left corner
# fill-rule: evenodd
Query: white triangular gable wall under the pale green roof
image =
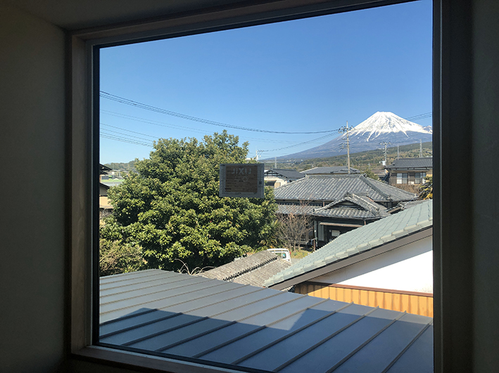
<path fill-rule="evenodd" d="M 433 237 L 335 270 L 311 280 L 405 292 L 433 292 Z"/>

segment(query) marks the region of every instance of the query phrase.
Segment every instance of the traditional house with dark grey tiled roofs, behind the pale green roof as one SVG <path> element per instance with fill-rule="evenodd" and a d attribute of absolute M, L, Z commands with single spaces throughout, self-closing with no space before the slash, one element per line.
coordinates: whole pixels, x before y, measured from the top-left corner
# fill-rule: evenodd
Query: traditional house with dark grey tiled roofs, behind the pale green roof
<path fill-rule="evenodd" d="M 278 214 L 311 216 L 308 240 L 317 247 L 355 228 L 389 216 L 387 209 L 416 195 L 354 175 L 310 175 L 275 190 Z M 308 240 L 305 240 L 307 242 Z"/>

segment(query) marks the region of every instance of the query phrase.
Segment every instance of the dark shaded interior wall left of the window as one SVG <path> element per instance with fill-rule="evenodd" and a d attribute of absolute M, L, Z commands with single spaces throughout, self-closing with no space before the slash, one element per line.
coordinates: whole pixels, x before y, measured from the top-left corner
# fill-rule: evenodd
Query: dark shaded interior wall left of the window
<path fill-rule="evenodd" d="M 0 5 L 1 372 L 64 358 L 64 38 Z"/>

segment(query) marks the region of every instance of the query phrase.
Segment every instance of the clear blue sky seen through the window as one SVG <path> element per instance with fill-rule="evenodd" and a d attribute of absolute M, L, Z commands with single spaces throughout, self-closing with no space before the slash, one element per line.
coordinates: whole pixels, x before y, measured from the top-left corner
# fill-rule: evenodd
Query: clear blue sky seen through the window
<path fill-rule="evenodd" d="M 414 117 L 431 112 L 431 1 L 103 48 L 101 91 L 271 131 L 331 131 L 377 111 Z M 415 122 L 428 126 L 431 118 Z M 157 138 L 222 130 L 101 98 L 100 162 L 149 157 L 144 143 Z M 265 150 L 263 158 L 338 136 L 227 130 L 250 143 L 250 156 Z"/>

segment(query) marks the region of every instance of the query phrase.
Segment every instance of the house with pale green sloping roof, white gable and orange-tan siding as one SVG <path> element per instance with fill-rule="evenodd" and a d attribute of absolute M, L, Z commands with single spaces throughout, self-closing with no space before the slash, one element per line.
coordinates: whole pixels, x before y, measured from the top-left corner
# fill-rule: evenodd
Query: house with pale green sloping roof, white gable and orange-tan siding
<path fill-rule="evenodd" d="M 433 201 L 345 233 L 264 284 L 433 316 Z"/>

